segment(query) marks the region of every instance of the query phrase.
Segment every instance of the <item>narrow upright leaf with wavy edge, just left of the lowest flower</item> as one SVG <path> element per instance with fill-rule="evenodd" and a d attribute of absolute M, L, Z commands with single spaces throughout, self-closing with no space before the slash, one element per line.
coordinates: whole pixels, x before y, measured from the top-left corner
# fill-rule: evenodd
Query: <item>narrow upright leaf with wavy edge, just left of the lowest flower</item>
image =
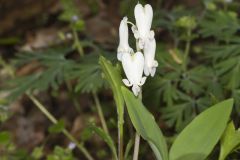
<path fill-rule="evenodd" d="M 122 78 L 120 70 L 112 65 L 110 61 L 101 56 L 99 63 L 104 73 L 104 77 L 107 79 L 110 87 L 113 91 L 114 100 L 117 105 L 118 115 L 121 117 L 119 123 L 123 123 L 123 112 L 124 112 L 124 100 L 121 92 Z"/>

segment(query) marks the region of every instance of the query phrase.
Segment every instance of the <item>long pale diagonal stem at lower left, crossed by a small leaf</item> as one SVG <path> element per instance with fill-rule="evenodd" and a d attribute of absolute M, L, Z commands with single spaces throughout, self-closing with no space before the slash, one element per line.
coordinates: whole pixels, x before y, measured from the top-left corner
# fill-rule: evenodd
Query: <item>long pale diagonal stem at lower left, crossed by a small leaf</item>
<path fill-rule="evenodd" d="M 54 124 L 56 124 L 58 121 L 57 119 L 50 113 L 48 110 L 32 95 L 28 94 L 28 97 L 33 101 L 33 103 L 38 107 L 38 109 Z M 63 134 L 69 138 L 71 141 L 73 141 L 78 149 L 84 154 L 84 156 L 88 160 L 94 160 L 94 158 L 90 155 L 90 153 L 87 151 L 87 149 L 83 146 L 83 144 L 80 144 L 77 139 L 75 139 L 66 129 L 64 129 Z"/>

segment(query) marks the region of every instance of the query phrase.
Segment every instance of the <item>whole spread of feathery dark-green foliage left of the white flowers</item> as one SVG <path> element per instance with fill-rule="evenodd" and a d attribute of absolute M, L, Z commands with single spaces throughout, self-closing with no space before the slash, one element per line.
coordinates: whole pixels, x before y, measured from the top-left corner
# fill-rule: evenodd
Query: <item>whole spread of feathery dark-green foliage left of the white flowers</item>
<path fill-rule="evenodd" d="M 35 62 L 38 69 L 8 82 L 11 88 L 10 99 L 14 100 L 27 91 L 45 91 L 49 88 L 57 90 L 65 82 L 73 83 L 75 92 L 80 93 L 98 92 L 107 88 L 98 64 L 99 55 L 89 54 L 80 60 L 66 58 L 72 52 L 71 48 L 54 48 L 19 53 L 15 59 L 16 67 Z"/>

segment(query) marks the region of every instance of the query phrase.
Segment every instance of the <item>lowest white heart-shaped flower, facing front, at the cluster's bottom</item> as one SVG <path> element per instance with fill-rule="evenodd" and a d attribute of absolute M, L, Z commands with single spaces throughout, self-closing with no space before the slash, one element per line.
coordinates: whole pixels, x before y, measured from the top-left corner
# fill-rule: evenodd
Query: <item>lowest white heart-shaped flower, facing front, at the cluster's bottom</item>
<path fill-rule="evenodd" d="M 146 77 L 143 76 L 144 69 L 144 57 L 141 52 L 135 54 L 124 53 L 122 55 L 122 66 L 127 79 L 123 79 L 123 83 L 130 87 L 135 96 L 138 95 L 145 81 Z"/>

